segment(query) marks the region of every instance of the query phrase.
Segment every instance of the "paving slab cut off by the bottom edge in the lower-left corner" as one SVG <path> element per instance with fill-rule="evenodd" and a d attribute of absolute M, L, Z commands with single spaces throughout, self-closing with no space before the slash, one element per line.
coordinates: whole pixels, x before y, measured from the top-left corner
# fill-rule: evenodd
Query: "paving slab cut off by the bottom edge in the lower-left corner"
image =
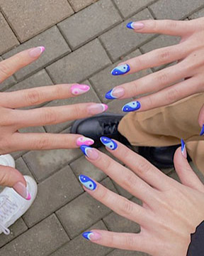
<path fill-rule="evenodd" d="M 13 256 L 16 255 L 16 252 L 18 252 L 18 255 L 45 256 L 68 241 L 69 238 L 62 225 L 55 214 L 52 214 L 2 247 L 0 252 L 4 256 Z"/>

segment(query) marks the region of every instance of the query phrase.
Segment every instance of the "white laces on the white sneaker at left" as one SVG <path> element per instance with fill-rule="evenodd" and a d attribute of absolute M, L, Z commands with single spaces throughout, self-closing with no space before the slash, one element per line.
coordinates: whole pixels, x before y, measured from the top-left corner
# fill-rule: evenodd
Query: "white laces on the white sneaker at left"
<path fill-rule="evenodd" d="M 5 235 L 10 234 L 10 230 L 6 228 L 3 223 L 4 220 L 8 217 L 8 214 L 12 214 L 13 210 L 17 208 L 16 203 L 12 203 L 8 196 L 0 196 L 0 229 L 4 232 Z"/>

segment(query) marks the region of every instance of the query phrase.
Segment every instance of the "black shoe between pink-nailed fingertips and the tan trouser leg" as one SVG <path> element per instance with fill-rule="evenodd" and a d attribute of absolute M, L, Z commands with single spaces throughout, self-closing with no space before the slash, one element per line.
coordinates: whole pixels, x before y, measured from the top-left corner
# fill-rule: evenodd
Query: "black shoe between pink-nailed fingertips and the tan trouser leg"
<path fill-rule="evenodd" d="M 98 114 L 94 117 L 79 119 L 74 122 L 71 128 L 72 134 L 82 134 L 85 137 L 94 139 L 94 147 L 102 146 L 100 137 L 106 136 L 116 139 L 119 142 L 130 145 L 127 139 L 118 132 L 118 124 L 123 118 L 121 114 Z"/>

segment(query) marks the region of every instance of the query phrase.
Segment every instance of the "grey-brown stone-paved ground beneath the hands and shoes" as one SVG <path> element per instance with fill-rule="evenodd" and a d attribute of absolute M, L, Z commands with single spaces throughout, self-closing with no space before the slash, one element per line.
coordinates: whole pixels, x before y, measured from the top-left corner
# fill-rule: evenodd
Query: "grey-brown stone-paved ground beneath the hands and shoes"
<path fill-rule="evenodd" d="M 49 102 L 107 102 L 103 95 L 113 85 L 135 80 L 156 69 L 113 78 L 110 70 L 119 60 L 174 44 L 178 38 L 140 35 L 125 28 L 128 21 L 146 18 L 197 18 L 204 15 L 203 0 L 0 0 L 0 55 L 45 46 L 42 57 L 1 85 L 17 90 L 61 82 L 85 82 L 91 91 L 72 100 Z M 122 102 L 108 102 L 120 112 Z M 70 122 L 35 127 L 35 132 L 69 132 Z M 22 132 L 28 132 L 28 129 Z M 110 178 L 85 161 L 81 151 L 29 151 L 13 154 L 17 168 L 38 182 L 38 196 L 28 212 L 0 236 L 0 254 L 125 256 L 145 255 L 99 247 L 81 233 L 90 228 L 139 232 L 140 227 L 102 206 L 84 193 L 77 176 L 88 174 L 113 191 L 135 201 Z M 166 173 L 176 177 L 174 170 Z"/>

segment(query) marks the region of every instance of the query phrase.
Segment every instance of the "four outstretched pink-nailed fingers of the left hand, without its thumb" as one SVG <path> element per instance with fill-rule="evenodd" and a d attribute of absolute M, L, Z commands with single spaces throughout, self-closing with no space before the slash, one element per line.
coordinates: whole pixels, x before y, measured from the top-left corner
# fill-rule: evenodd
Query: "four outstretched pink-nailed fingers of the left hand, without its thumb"
<path fill-rule="evenodd" d="M 45 50 L 31 48 L 0 63 L 0 82 L 20 68 L 37 60 Z M 0 85 L 1 88 L 1 85 Z M 69 149 L 94 141 L 79 134 L 20 133 L 18 129 L 58 124 L 99 114 L 107 105 L 81 103 L 62 107 L 41 107 L 33 110 L 18 110 L 21 107 L 39 105 L 56 99 L 76 97 L 89 91 L 88 85 L 52 85 L 35 87 L 16 92 L 0 92 L 0 154 L 26 149 Z"/>

